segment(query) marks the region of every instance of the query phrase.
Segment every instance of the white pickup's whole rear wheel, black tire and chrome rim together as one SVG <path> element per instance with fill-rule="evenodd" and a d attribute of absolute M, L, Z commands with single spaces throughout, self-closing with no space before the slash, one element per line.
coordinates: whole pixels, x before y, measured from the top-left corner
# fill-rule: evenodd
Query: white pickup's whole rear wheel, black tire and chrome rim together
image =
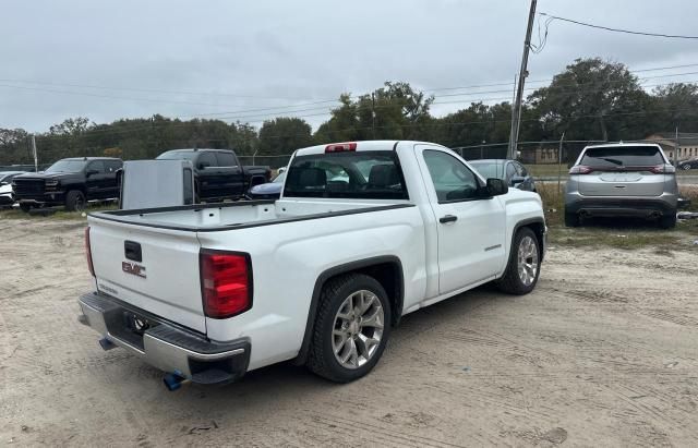
<path fill-rule="evenodd" d="M 375 366 L 390 335 L 390 302 L 374 278 L 349 274 L 329 280 L 320 310 L 308 367 L 324 378 L 349 383 Z"/>

